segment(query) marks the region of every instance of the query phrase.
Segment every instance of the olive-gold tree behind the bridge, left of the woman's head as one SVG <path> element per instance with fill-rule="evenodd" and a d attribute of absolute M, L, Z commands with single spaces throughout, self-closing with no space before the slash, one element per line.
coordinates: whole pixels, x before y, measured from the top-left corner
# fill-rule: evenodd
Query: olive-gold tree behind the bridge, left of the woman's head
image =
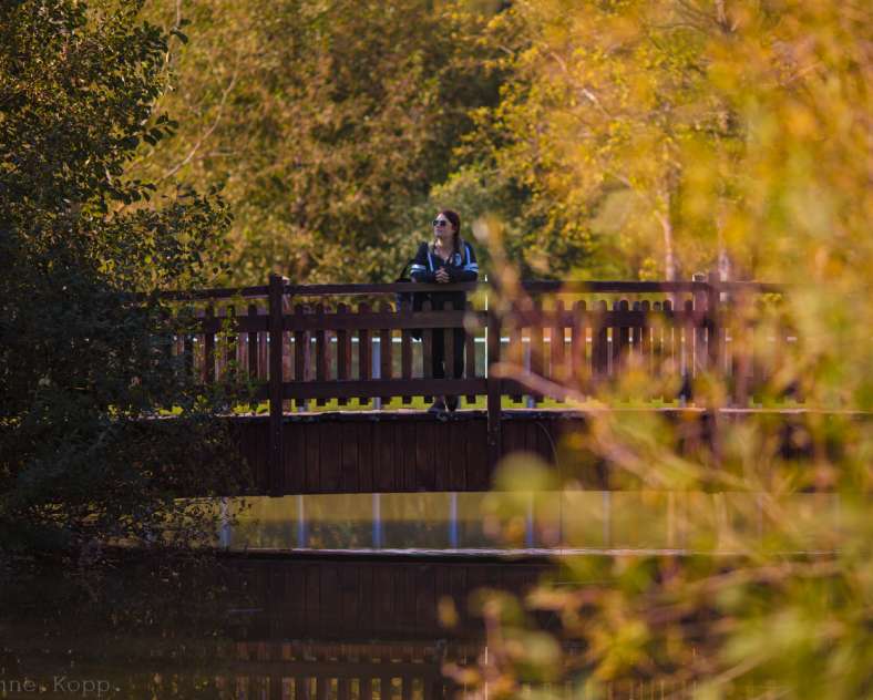
<path fill-rule="evenodd" d="M 223 187 L 236 281 L 393 280 L 429 236 L 468 111 L 490 104 L 463 1 L 194 2 L 163 103 L 183 126 L 137 172 Z M 154 3 L 167 25 L 174 3 Z"/>

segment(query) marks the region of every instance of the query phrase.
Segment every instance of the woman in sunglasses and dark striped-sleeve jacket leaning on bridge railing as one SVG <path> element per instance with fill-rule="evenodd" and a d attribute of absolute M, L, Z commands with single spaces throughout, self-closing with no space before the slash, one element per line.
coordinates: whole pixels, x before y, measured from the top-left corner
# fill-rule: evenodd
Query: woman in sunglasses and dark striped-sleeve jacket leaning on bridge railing
<path fill-rule="evenodd" d="M 451 209 L 444 209 L 432 222 L 433 243 L 419 246 L 412 261 L 410 276 L 417 282 L 449 285 L 451 282 L 472 282 L 479 277 L 479 265 L 473 247 L 461 238 L 461 217 Z M 466 308 L 466 295 L 463 291 L 433 292 L 430 295 L 433 309 L 444 309 L 445 302 L 455 310 Z M 454 367 L 452 377 L 464 375 L 464 343 L 466 332 L 463 328 L 454 331 Z M 433 377 L 444 379 L 449 368 L 445 367 L 445 346 L 443 330 L 433 331 L 432 343 Z M 458 397 L 440 398 L 429 409 L 432 413 L 442 413 L 449 409 L 458 409 Z"/>

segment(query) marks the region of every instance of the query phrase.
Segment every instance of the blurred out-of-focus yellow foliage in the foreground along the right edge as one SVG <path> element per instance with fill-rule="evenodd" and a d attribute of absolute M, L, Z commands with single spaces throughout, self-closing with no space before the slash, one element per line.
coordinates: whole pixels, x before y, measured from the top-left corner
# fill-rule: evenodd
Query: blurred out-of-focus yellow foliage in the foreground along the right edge
<path fill-rule="evenodd" d="M 701 698 L 869 697 L 870 10 L 807 0 L 664 7 L 665 18 L 717 13 L 686 70 L 694 94 L 723 107 L 739 134 L 729 148 L 712 147 L 708 134 L 676 148 L 677 213 L 718 212 L 733 256 L 788 286 L 781 318 L 757 307 L 735 312 L 760 325 L 764 338 L 787 320 L 797 330 L 762 401 L 782 408 L 777 401 L 792 387 L 808 412 L 752 412 L 718 426 L 718 449 L 682 452 L 674 447 L 677 428 L 655 412 L 588 414 L 584 433 L 564 445 L 563 473 L 607 463 L 618 484 L 645 492 L 641 502 L 671 492 L 685 503 L 686 552 L 565 560 L 561 585 L 544 585 L 524 601 L 527 610 L 551 614 L 548 631 L 525 621 L 520 604 L 491 598 L 489 662 L 459 672 L 480 688 L 490 682 L 491 697 L 516 697 L 527 681 L 552 688 L 569 681 L 575 692 L 605 694 L 616 680 L 650 680 Z M 618 75 L 627 60 L 606 56 L 603 70 L 615 62 Z M 645 55 L 634 61 L 646 70 Z M 554 81 L 566 83 L 563 94 L 576 84 L 557 69 Z M 617 113 L 619 131 L 634 104 Z M 586 147 L 575 154 L 574 172 L 585 169 L 587 154 Z M 618 158 L 615 172 L 640 163 L 645 169 L 646 159 L 660 172 L 661 156 L 655 144 L 638 153 L 619 148 L 610 158 Z M 569 153 L 562 158 L 569 168 Z M 738 352 L 749 350 L 739 334 L 732 342 Z M 631 371 L 627 381 L 639 391 L 649 378 Z M 698 401 L 722 406 L 720 379 L 708 375 L 701 384 Z M 600 398 L 608 405 L 623 393 L 630 391 L 619 387 Z M 779 449 L 785 431 L 792 439 Z M 501 485 L 516 494 L 494 496 L 492 515 L 507 534 L 526 512 L 517 491 L 550 485 L 548 476 L 531 462 L 506 465 Z"/>

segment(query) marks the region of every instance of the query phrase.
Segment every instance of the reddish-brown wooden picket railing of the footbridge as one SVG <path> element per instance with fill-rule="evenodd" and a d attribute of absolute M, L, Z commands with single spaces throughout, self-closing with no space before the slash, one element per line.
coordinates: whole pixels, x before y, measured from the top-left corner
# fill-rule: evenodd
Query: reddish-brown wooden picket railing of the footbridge
<path fill-rule="evenodd" d="M 424 301 L 413 312 L 396 302 L 399 292 L 476 290 L 477 306 L 466 309 Z M 283 472 L 286 450 L 307 449 L 294 439 L 285 446 L 284 416 L 295 409 L 328 401 L 340 410 L 350 402 L 380 408 L 392 399 L 409 405 L 415 397 L 463 395 L 468 403 L 484 398 L 484 444 L 494 463 L 502 454 L 504 398 L 534 408 L 565 398 L 567 389 L 585 397 L 617 382 L 628 368 L 657 379 L 666 401 L 692 401 L 695 379 L 715 372 L 728 379 L 733 403 L 746 405 L 774 374 L 793 338 L 783 329 L 760 331 L 753 315 L 735 312 L 737 300 L 746 309 L 772 291 L 778 289 L 710 278 L 524 282 L 507 295 L 475 282 L 299 286 L 271 276 L 267 287 L 191 292 L 188 301 L 201 303 L 198 328 L 179 334 L 175 351 L 203 382 L 222 382 L 253 403 L 269 401 L 274 474 Z M 434 343 L 443 343 L 451 369 L 453 333 L 462 329 L 463 377 L 434 378 Z M 761 332 L 769 333 L 763 342 Z M 525 372 L 546 383 L 533 391 L 520 381 Z"/>

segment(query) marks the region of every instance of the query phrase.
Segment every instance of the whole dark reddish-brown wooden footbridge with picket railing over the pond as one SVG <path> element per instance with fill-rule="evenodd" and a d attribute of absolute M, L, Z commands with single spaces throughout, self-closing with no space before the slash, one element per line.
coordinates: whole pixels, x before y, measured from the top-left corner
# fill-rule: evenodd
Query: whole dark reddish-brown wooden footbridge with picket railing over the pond
<path fill-rule="evenodd" d="M 461 310 L 425 301 L 414 312 L 396 302 L 399 292 L 436 290 L 470 292 L 471 301 Z M 175 295 L 196 306 L 197 320 L 173 347 L 204 383 L 223 383 L 253 409 L 268 401 L 266 415 L 227 418 L 258 493 L 481 491 L 509 452 L 557 462 L 561 436 L 585 421 L 563 402 L 617 384 L 627 371 L 665 388 L 659 408 L 640 410 L 696 412 L 697 437 L 706 440 L 712 412 L 694 405 L 695 380 L 706 372 L 727 379 L 732 414 L 740 414 L 794 340 L 788 329 L 761 330 L 751 320 L 748 309 L 764 292 L 779 289 L 712 277 L 496 289 L 301 286 L 271 276 L 263 287 Z M 452 367 L 449 331 L 461 328 L 464 375 L 434 378 L 435 331 L 446 331 Z M 465 401 L 436 420 L 421 401 L 443 394 Z"/>

